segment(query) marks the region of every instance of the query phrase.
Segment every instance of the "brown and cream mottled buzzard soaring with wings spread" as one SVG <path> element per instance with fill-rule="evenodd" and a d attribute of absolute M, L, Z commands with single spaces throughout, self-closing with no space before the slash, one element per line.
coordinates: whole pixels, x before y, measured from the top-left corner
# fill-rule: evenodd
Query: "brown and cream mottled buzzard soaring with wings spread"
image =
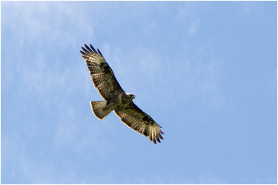
<path fill-rule="evenodd" d="M 126 93 L 115 75 L 104 59 L 99 49 L 92 47 L 81 47 L 82 58 L 86 61 L 92 83 L 104 98 L 104 101 L 91 101 L 92 112 L 99 119 L 104 119 L 110 112 L 114 111 L 121 121 L 134 131 L 143 134 L 156 144 L 163 139 L 161 126 L 158 125 L 148 114 L 143 112 L 133 103 L 134 94 Z"/>

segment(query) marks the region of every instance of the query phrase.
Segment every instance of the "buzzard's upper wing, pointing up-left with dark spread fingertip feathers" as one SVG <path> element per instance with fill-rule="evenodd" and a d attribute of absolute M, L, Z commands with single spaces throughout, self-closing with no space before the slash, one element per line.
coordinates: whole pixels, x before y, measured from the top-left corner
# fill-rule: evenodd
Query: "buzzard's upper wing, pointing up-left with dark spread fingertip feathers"
<path fill-rule="evenodd" d="M 83 55 L 82 58 L 87 63 L 90 76 L 92 76 L 92 83 L 99 91 L 99 94 L 105 100 L 108 100 L 114 94 L 123 92 L 124 90 L 119 82 L 117 82 L 111 67 L 109 67 L 99 49 L 96 51 L 91 44 L 90 48 L 85 44 L 85 48 L 82 47 L 83 51 L 80 52 Z"/>

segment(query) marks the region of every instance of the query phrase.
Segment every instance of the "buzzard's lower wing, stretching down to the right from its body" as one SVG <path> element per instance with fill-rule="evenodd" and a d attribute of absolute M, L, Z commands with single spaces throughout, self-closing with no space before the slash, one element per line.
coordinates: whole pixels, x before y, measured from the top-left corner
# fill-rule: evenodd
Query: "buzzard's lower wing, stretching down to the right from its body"
<path fill-rule="evenodd" d="M 115 109 L 115 113 L 120 117 L 121 121 L 134 131 L 143 134 L 149 138 L 149 141 L 160 143 L 163 139 L 161 134 L 161 126 L 158 125 L 148 114 L 142 112 L 133 102 L 124 110 Z"/>

